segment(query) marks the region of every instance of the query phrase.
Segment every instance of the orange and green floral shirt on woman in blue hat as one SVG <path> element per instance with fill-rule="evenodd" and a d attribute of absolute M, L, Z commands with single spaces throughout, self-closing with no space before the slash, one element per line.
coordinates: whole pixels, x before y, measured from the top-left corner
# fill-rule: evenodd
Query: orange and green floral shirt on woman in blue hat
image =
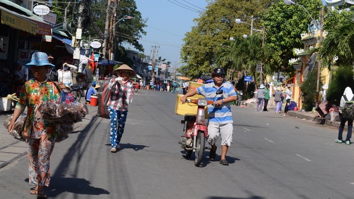
<path fill-rule="evenodd" d="M 46 132 L 48 137 L 57 137 L 59 130 L 54 123 L 41 118 L 41 114 L 37 111 L 39 105 L 44 101 L 56 101 L 60 96 L 59 88 L 53 82 L 44 81 L 39 84 L 35 79 L 25 82 L 21 89 L 20 98 L 16 104 L 16 108 L 22 112 L 27 107 L 27 120 L 24 127 L 23 135 L 27 138 L 36 137 Z M 32 135 L 37 134 L 37 135 Z"/>

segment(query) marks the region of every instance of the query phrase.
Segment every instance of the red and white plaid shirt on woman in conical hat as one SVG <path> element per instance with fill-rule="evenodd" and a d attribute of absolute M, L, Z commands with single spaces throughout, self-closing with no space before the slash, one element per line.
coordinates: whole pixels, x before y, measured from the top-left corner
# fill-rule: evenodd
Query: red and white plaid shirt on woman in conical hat
<path fill-rule="evenodd" d="M 133 101 L 133 84 L 129 79 L 128 82 L 122 86 L 116 83 L 115 78 L 117 77 L 113 76 L 108 84 L 108 89 L 112 90 L 115 87 L 115 91 L 111 92 L 107 106 L 115 110 L 128 111 L 128 104 Z"/>

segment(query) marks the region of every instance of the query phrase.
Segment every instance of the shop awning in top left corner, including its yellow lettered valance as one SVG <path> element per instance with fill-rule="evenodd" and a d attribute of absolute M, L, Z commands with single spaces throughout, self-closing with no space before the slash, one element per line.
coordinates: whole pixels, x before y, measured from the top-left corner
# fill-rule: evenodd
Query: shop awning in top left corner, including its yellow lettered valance
<path fill-rule="evenodd" d="M 51 25 L 31 11 L 10 1 L 0 0 L 1 23 L 31 34 L 52 35 Z M 6 8 L 5 8 L 6 7 Z"/>

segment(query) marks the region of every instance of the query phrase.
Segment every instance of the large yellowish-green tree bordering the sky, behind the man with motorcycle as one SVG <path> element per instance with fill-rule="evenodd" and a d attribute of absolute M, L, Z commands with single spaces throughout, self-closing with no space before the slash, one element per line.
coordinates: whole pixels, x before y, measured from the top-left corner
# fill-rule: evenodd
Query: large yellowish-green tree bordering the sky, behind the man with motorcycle
<path fill-rule="evenodd" d="M 186 33 L 181 59 L 187 63 L 178 71 L 192 78 L 209 75 L 216 67 L 216 53 L 229 37 L 240 37 L 250 33 L 247 24 L 236 24 L 236 18 L 257 18 L 271 5 L 271 0 L 216 0 L 210 2 L 207 10 L 194 19 L 195 26 Z M 246 16 L 246 17 L 244 17 Z M 260 28 L 260 20 L 254 21 L 254 28 Z M 229 65 L 230 66 L 230 65 Z M 224 68 L 227 69 L 227 68 Z"/>

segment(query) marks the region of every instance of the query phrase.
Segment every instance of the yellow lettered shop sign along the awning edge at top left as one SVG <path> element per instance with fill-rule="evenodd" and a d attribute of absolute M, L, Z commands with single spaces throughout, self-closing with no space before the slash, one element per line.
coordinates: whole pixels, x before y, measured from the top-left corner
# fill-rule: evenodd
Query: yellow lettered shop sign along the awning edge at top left
<path fill-rule="evenodd" d="M 37 33 L 36 23 L 29 22 L 5 11 L 1 12 L 1 23 L 34 35 Z"/>

